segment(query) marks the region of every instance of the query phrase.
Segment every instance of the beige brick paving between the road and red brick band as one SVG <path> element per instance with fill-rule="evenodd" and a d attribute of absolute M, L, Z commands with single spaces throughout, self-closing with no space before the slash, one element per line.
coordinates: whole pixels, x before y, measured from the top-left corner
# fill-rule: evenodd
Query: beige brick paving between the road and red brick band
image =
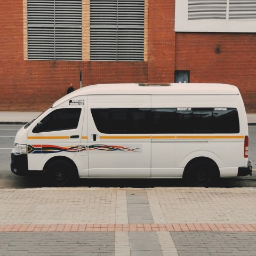
<path fill-rule="evenodd" d="M 138 191 L 102 188 L 1 189 L 0 224 L 256 223 L 254 188 Z"/>

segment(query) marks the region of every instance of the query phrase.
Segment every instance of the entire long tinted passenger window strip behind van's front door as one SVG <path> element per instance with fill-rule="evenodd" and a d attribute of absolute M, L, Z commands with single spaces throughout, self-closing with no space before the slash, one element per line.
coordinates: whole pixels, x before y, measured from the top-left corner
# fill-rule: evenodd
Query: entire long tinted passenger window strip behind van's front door
<path fill-rule="evenodd" d="M 236 108 L 92 108 L 101 133 L 239 133 Z"/>

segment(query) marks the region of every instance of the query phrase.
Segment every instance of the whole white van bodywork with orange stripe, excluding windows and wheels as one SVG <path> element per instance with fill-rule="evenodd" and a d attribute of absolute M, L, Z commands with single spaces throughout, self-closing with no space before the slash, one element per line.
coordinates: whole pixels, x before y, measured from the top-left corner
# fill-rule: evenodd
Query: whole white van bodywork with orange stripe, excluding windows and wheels
<path fill-rule="evenodd" d="M 34 132 L 43 118 L 65 108 L 81 108 L 75 129 Z M 212 108 L 223 109 L 223 114 L 225 109 L 235 108 L 239 117 L 239 132 L 102 132 L 95 124 L 92 109 L 105 108 L 142 108 L 149 109 L 150 113 L 157 109 L 170 111 L 173 108 L 178 112 L 191 108 Z M 213 115 L 217 115 L 218 110 L 214 111 Z M 75 138 L 72 138 L 74 135 Z M 30 126 L 20 129 L 15 143 L 28 145 L 29 171 L 43 171 L 48 161 L 63 157 L 74 162 L 80 178 L 182 178 L 190 161 L 204 157 L 218 166 L 220 177 L 233 177 L 237 175 L 238 167 L 247 166 L 248 158 L 244 157 L 247 136 L 245 108 L 236 86 L 100 84 L 83 87 L 56 101 Z"/>

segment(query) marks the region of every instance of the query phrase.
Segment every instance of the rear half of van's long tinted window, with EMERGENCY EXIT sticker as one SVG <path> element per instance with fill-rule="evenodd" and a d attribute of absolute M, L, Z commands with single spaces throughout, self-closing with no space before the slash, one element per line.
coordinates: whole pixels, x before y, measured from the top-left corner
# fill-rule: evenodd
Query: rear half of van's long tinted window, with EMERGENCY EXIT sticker
<path fill-rule="evenodd" d="M 239 133 L 236 108 L 152 109 L 152 133 Z"/>

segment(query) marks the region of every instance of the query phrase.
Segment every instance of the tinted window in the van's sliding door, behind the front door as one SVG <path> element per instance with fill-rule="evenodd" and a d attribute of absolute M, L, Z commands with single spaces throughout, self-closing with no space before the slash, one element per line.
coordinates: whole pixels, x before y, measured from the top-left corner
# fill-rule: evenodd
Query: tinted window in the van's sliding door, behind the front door
<path fill-rule="evenodd" d="M 150 133 L 150 108 L 92 108 L 94 123 L 102 133 Z"/>

